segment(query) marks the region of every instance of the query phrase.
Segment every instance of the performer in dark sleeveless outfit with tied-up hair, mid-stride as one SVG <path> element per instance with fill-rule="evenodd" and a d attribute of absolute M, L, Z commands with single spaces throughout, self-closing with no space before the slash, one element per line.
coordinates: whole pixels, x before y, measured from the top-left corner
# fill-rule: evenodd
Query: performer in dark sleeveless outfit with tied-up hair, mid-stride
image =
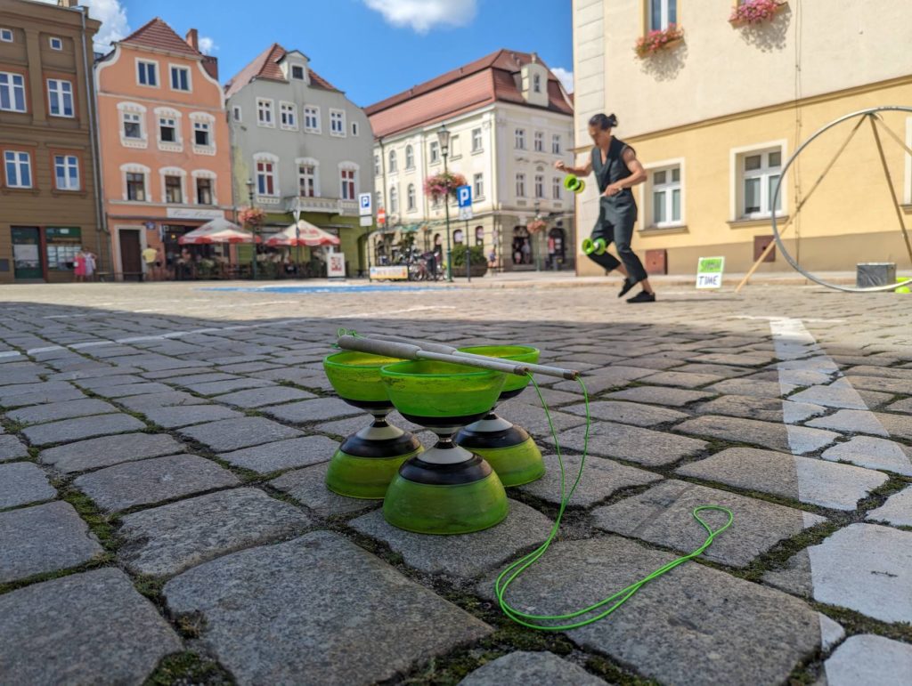
<path fill-rule="evenodd" d="M 557 162 L 554 168 L 578 177 L 596 172 L 601 197 L 598 199 L 598 220 L 592 230 L 592 241 L 602 239 L 606 245 L 613 241 L 620 261 L 607 251 L 600 255 L 592 252 L 588 257 L 606 271 L 617 269 L 624 275 L 624 285 L 617 294 L 618 298 L 627 295 L 639 283 L 643 290 L 628 298 L 627 302 L 656 302 L 656 293 L 649 285 L 643 263 L 630 247 L 633 227 L 637 222 L 637 201 L 631 188 L 646 180 L 646 169 L 643 169 L 633 148 L 612 136 L 611 129 L 615 127 L 617 117 L 613 114 L 597 114 L 590 118 L 589 135 L 595 147 L 586 165 L 567 167 L 564 162 Z"/>

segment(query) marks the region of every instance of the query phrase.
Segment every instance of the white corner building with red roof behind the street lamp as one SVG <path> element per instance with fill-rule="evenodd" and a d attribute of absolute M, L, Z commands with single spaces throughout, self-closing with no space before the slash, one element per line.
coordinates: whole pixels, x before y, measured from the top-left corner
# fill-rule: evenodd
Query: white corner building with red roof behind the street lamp
<path fill-rule="evenodd" d="M 479 93 L 486 101 L 460 107 L 458 91 L 483 88 L 487 77 L 494 86 Z M 372 261 L 399 260 L 399 241 L 408 233 L 419 251 L 445 258 L 446 209 L 424 193 L 425 179 L 444 170 L 438 132 L 445 126 L 445 166 L 472 187 L 472 220 L 459 220 L 451 200 L 451 246 L 482 246 L 492 268 L 503 271 L 574 268 L 574 201 L 554 169 L 573 158 L 572 108 L 536 56 L 502 50 L 367 112 L 377 134 L 376 204 L 388 218 L 385 240 L 373 241 Z M 409 118 L 420 120 L 390 130 Z M 536 217 L 546 226 L 530 234 L 527 225 Z"/>

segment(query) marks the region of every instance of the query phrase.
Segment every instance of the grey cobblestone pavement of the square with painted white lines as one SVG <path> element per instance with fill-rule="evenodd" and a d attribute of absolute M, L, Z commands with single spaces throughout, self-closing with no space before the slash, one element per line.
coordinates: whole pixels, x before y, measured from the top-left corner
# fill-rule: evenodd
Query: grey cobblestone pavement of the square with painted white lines
<path fill-rule="evenodd" d="M 632 307 L 606 285 L 87 284 L 0 298 L 4 683 L 907 683 L 908 296 L 668 286 Z M 514 605 L 562 612 L 624 588 L 702 542 L 697 505 L 731 507 L 733 527 L 608 619 L 511 623 L 492 579 L 559 501 L 537 397 L 502 414 L 549 472 L 510 489 L 503 524 L 393 529 L 378 503 L 323 486 L 367 422 L 322 373 L 340 326 L 529 343 L 585 371 L 583 484 Z M 582 395 L 542 381 L 572 469 Z"/>

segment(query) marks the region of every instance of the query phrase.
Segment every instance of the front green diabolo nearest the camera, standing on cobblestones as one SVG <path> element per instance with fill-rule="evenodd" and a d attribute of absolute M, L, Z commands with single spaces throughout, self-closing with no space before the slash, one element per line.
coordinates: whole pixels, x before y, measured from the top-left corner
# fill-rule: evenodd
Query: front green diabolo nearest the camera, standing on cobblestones
<path fill-rule="evenodd" d="M 452 436 L 488 415 L 506 381 L 500 372 L 430 360 L 380 370 L 389 399 L 406 419 L 428 427 L 437 444 L 410 457 L 389 484 L 383 516 L 424 534 L 463 534 L 492 527 L 509 504 L 491 466 Z"/>

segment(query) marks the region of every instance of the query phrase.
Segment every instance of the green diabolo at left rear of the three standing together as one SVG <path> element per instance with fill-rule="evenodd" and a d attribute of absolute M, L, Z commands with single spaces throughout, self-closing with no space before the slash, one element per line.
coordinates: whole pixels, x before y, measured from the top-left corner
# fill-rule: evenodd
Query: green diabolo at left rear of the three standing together
<path fill-rule="evenodd" d="M 329 461 L 326 486 L 347 497 L 382 498 L 399 466 L 421 452 L 420 441 L 386 417 L 393 409 L 380 368 L 400 362 L 395 357 L 345 352 L 323 361 L 326 378 L 347 404 L 367 410 L 371 425 L 350 435 Z"/>

